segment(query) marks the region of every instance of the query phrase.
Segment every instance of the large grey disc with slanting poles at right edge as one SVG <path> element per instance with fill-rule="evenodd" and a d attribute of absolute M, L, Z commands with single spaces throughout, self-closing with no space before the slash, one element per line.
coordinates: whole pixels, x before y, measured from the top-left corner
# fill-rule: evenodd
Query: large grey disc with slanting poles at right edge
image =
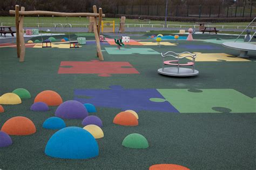
<path fill-rule="evenodd" d="M 235 39 L 234 42 L 226 42 L 226 43 L 223 43 L 222 45 L 225 46 L 225 47 L 228 47 L 230 49 L 235 49 L 235 50 L 240 50 L 240 55 L 238 57 L 241 57 L 241 58 L 248 58 L 247 54 L 248 54 L 248 51 L 256 51 L 256 44 L 250 44 L 252 38 L 255 36 L 255 31 L 252 35 L 252 37 L 250 38 L 250 40 L 248 40 L 247 43 L 237 43 L 236 41 L 238 40 L 238 38 L 242 35 L 242 33 L 245 32 L 245 30 L 247 30 L 247 28 L 254 22 L 256 21 L 255 20 L 256 17 L 252 20 L 251 23 L 249 23 L 246 28 L 244 29 L 244 31 L 242 31 L 240 33 L 240 35 L 237 37 L 237 39 Z"/>

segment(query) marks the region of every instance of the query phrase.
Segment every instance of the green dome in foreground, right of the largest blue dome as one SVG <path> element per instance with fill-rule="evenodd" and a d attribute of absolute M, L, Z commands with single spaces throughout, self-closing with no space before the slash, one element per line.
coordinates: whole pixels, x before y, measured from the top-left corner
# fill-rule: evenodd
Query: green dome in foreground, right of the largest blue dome
<path fill-rule="evenodd" d="M 147 139 L 143 135 L 132 133 L 124 138 L 122 145 L 134 149 L 145 149 L 149 147 L 149 142 L 147 142 Z"/>

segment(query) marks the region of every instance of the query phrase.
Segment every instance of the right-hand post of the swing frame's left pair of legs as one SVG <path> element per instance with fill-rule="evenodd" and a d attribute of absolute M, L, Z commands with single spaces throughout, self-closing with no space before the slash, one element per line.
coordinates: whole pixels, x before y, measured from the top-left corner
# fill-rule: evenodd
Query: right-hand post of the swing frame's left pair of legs
<path fill-rule="evenodd" d="M 21 7 L 21 11 L 25 11 L 25 7 Z M 23 21 L 24 21 L 24 16 L 21 16 L 19 19 L 19 41 L 21 43 L 21 55 L 19 56 L 19 62 L 24 62 L 25 58 L 25 40 L 24 40 L 24 32 L 23 32 Z"/>

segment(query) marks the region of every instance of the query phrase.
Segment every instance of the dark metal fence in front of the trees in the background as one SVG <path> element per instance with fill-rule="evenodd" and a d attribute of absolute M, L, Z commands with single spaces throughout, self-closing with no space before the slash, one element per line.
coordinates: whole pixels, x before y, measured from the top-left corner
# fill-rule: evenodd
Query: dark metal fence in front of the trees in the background
<path fill-rule="evenodd" d="M 165 5 L 117 6 L 117 14 L 138 16 L 165 16 Z M 167 6 L 168 17 L 256 17 L 256 7 L 248 6 Z"/>

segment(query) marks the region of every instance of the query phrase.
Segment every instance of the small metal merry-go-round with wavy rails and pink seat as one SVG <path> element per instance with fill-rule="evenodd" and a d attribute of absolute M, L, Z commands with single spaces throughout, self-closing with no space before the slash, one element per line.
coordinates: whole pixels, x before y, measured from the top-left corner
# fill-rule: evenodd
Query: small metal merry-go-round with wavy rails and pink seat
<path fill-rule="evenodd" d="M 170 53 L 173 53 L 174 55 L 171 55 Z M 180 55 L 186 54 L 187 56 L 181 57 Z M 196 62 L 195 59 L 197 57 L 197 54 L 192 54 L 190 52 L 182 52 L 182 53 L 176 53 L 173 51 L 168 51 L 166 53 L 161 53 L 161 56 L 163 57 L 163 67 L 158 69 L 158 73 L 164 74 L 167 76 L 179 76 L 179 77 L 188 77 L 188 76 L 196 76 L 199 71 L 194 69 L 194 63 Z M 171 56 L 176 58 L 177 60 L 167 60 L 165 61 L 165 57 Z M 191 57 L 193 59 L 193 62 L 188 62 L 186 64 L 180 64 L 180 59 L 184 59 L 187 57 Z M 164 67 L 165 65 L 172 65 L 177 67 Z M 192 66 L 192 69 L 184 68 L 181 66 Z"/>

